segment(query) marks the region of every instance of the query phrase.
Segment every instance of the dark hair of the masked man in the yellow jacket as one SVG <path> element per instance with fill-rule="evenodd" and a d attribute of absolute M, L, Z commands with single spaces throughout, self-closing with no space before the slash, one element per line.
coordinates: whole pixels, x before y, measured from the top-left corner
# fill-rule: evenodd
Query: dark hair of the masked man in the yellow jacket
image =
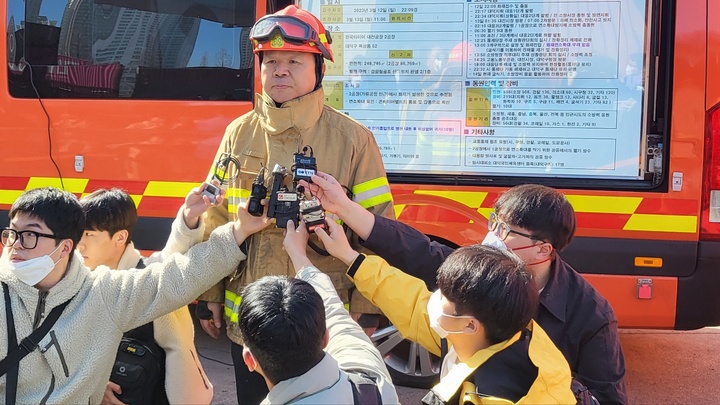
<path fill-rule="evenodd" d="M 442 295 L 455 304 L 454 315 L 474 316 L 490 344 L 510 339 L 537 312 L 538 291 L 525 263 L 505 250 L 462 247 L 440 266 L 437 280 Z"/>

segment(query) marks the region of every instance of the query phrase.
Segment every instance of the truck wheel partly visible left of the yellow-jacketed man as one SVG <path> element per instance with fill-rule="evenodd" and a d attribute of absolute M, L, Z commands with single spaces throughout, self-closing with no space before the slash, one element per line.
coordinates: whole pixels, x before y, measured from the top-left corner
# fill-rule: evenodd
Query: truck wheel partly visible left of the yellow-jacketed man
<path fill-rule="evenodd" d="M 371 339 L 395 385 L 429 389 L 440 380 L 440 358 L 404 339 L 395 326 L 381 326 Z"/>

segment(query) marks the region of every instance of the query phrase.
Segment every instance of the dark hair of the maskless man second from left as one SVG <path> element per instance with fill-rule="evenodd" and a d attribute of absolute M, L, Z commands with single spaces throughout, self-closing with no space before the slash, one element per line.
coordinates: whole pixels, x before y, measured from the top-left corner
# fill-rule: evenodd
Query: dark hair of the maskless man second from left
<path fill-rule="evenodd" d="M 85 213 L 85 229 L 107 231 L 110 236 L 125 230 L 126 244 L 130 243 L 137 224 L 137 208 L 125 191 L 101 188 L 81 198 L 80 205 Z"/>

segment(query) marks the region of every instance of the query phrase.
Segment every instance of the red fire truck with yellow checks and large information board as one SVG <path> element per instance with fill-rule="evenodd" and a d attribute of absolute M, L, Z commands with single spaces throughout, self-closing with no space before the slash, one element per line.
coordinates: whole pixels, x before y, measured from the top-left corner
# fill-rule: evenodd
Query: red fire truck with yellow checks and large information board
<path fill-rule="evenodd" d="M 281 0 L 2 0 L 0 226 L 24 190 L 122 187 L 160 248 L 260 91 L 247 39 Z M 720 3 L 303 0 L 333 37 L 327 102 L 373 130 L 397 218 L 480 242 L 536 182 L 578 218 L 563 258 L 623 327 L 720 324 Z M 322 169 L 322 168 L 320 168 Z M 394 375 L 437 364 L 391 329 Z"/>

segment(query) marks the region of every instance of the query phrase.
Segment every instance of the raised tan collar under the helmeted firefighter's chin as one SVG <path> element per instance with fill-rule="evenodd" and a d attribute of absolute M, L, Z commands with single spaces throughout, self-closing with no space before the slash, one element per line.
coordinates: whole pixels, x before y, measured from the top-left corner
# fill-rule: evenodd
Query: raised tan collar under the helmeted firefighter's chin
<path fill-rule="evenodd" d="M 263 91 L 255 96 L 255 113 L 260 125 L 269 135 L 279 135 L 290 128 L 303 133 L 312 128 L 320 119 L 325 104 L 325 92 L 322 87 L 275 106 L 275 101 Z"/>

